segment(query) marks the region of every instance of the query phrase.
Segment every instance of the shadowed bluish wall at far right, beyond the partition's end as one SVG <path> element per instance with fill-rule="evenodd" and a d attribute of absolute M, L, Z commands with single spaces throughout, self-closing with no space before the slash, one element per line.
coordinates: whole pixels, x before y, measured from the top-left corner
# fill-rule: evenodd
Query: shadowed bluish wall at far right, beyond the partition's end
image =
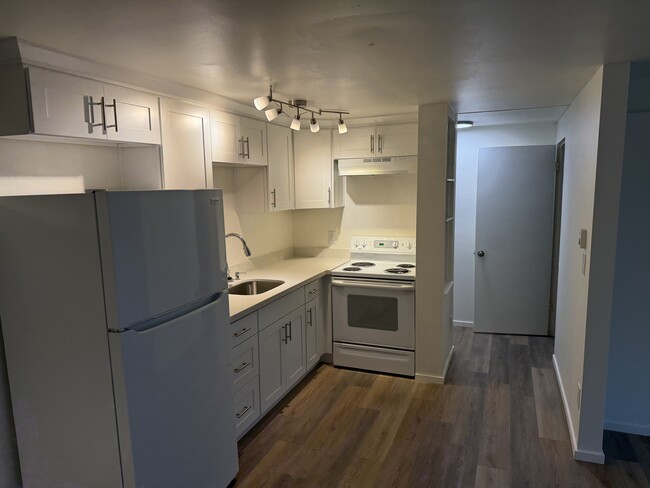
<path fill-rule="evenodd" d="M 607 429 L 646 436 L 650 435 L 648 134 L 650 112 L 628 114 L 605 411 Z"/>

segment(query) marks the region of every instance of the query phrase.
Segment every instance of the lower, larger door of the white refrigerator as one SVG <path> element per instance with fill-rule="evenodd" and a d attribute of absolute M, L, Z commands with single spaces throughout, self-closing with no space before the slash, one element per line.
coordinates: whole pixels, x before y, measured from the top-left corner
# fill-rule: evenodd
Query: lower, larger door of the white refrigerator
<path fill-rule="evenodd" d="M 228 295 L 110 332 L 125 487 L 224 487 L 237 474 Z"/>

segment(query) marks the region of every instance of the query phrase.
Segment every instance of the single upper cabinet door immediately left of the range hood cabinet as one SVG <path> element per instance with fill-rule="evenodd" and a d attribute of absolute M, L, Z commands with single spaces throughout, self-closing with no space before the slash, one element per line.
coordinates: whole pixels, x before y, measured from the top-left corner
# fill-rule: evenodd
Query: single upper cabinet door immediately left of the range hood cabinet
<path fill-rule="evenodd" d="M 332 131 L 293 135 L 296 208 L 332 206 Z"/>

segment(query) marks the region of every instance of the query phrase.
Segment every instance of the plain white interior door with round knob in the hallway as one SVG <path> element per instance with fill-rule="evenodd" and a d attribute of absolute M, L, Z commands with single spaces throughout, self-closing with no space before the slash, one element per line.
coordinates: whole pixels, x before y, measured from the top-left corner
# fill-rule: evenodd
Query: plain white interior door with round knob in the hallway
<path fill-rule="evenodd" d="M 474 330 L 546 335 L 555 146 L 479 149 Z"/>

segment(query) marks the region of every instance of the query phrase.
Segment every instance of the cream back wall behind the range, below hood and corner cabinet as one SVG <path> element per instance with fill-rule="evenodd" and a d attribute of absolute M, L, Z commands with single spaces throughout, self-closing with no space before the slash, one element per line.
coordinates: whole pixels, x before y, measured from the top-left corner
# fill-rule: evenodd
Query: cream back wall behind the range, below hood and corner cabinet
<path fill-rule="evenodd" d="M 293 212 L 296 252 L 346 256 L 353 235 L 415 236 L 416 200 L 416 175 L 348 176 L 345 207 Z"/>

